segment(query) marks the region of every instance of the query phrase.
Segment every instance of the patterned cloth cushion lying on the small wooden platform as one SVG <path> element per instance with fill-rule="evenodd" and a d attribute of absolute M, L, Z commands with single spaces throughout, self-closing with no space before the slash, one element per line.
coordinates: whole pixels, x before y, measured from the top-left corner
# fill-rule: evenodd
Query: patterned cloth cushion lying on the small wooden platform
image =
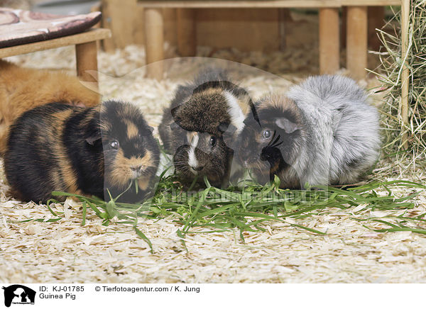
<path fill-rule="evenodd" d="M 101 20 L 101 12 L 53 15 L 0 7 L 0 48 L 80 33 Z"/>

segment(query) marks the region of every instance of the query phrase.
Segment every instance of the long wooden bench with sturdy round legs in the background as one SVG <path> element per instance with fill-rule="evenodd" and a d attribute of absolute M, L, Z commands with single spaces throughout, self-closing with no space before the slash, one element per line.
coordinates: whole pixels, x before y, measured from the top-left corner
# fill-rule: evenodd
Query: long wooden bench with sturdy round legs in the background
<path fill-rule="evenodd" d="M 138 1 L 145 14 L 146 63 L 148 77 L 163 78 L 164 59 L 163 13 L 164 8 L 178 9 L 178 41 L 190 44 L 187 50 L 195 51 L 195 23 L 191 9 L 197 8 L 318 8 L 320 10 L 320 73 L 334 73 L 339 69 L 340 38 L 339 9 L 347 6 L 346 53 L 347 69 L 354 79 L 366 75 L 367 66 L 367 6 L 400 5 L 401 0 L 253 0 L 253 1 L 201 1 L 201 0 L 151 0 Z M 179 45 L 179 43 L 178 43 Z M 191 46 L 192 45 L 192 46 Z M 195 54 L 194 54 L 195 55 Z M 156 62 L 155 64 L 152 64 Z"/>

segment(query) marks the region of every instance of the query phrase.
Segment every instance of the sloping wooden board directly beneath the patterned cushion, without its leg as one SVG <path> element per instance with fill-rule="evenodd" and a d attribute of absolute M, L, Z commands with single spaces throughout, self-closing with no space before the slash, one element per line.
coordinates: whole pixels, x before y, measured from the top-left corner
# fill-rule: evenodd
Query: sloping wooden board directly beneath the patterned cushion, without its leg
<path fill-rule="evenodd" d="M 67 35 L 53 40 L 45 40 L 25 45 L 0 48 L 0 58 L 27 54 L 28 52 L 38 52 L 39 50 L 50 50 L 51 48 L 56 47 L 93 42 L 96 40 L 109 38 L 110 36 L 111 31 L 108 29 L 98 28 L 87 30 L 83 33 Z"/>

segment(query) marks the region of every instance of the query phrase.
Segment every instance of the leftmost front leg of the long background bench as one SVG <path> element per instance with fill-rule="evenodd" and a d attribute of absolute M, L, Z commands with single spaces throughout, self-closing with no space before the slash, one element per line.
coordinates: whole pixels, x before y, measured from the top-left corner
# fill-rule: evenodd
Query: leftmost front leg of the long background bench
<path fill-rule="evenodd" d="M 161 9 L 145 9 L 145 50 L 148 78 L 163 79 L 164 29 Z M 153 63 L 155 62 L 155 63 Z"/>

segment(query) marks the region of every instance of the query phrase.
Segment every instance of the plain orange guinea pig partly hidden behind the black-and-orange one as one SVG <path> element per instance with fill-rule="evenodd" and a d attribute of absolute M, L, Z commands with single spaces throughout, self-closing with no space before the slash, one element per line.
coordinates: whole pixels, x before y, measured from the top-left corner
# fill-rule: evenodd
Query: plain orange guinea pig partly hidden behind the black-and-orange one
<path fill-rule="evenodd" d="M 52 102 L 92 107 L 100 95 L 62 72 L 28 69 L 0 60 L 0 155 L 6 150 L 9 125 L 25 111 Z"/>

